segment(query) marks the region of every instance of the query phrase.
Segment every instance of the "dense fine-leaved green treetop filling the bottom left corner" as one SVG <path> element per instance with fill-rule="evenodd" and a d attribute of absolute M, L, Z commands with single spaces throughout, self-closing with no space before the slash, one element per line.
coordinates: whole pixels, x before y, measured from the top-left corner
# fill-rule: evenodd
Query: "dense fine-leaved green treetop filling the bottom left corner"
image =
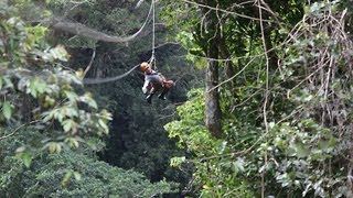
<path fill-rule="evenodd" d="M 43 136 L 31 130 L 7 139 L 0 151 L 11 153 L 28 136 Z M 175 187 L 165 180 L 151 184 L 137 172 L 113 167 L 67 148 L 58 154 L 38 155 L 26 167 L 18 157 L 0 154 L 1 197 L 151 197 Z"/>

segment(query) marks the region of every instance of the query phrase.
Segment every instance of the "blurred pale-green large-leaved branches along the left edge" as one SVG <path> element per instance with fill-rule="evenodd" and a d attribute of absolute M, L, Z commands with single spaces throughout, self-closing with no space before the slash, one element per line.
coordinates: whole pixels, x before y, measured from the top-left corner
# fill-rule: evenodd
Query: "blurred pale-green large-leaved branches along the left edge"
<path fill-rule="evenodd" d="M 99 110 L 90 94 L 79 94 L 79 76 L 63 65 L 68 58 L 65 48 L 51 47 L 44 40 L 45 28 L 29 26 L 12 11 L 4 7 L 0 12 L 0 121 L 8 132 L 1 133 L 3 139 L 32 124 L 45 134 L 36 147 L 53 153 L 63 145 L 77 147 L 87 134 L 107 134 L 110 113 Z M 18 153 L 29 166 L 31 153 L 25 146 Z"/>

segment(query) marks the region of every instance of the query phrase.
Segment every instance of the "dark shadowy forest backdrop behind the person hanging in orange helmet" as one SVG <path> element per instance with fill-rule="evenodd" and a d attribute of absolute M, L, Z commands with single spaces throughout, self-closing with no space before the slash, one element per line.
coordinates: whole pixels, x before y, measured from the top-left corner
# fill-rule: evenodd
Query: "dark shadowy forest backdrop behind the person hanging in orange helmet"
<path fill-rule="evenodd" d="M 150 1 L 143 1 L 139 7 L 132 1 L 85 1 L 79 6 L 72 1 L 51 1 L 49 8 L 54 15 L 65 15 L 63 20 L 81 22 L 109 35 L 125 36 L 140 29 L 149 6 Z M 108 125 L 111 132 L 106 139 L 107 146 L 100 154 L 104 161 L 119 167 L 135 168 L 152 182 L 163 178 L 185 180 L 189 173 L 168 166 L 169 158 L 181 151 L 175 147 L 174 141 L 168 140 L 162 125 L 174 118 L 173 103 L 185 99 L 190 80 L 196 74 L 180 57 L 183 52 L 179 45 L 164 44 L 165 29 L 158 25 L 158 13 L 162 8 L 158 6 L 156 9 L 156 45 L 161 45 L 156 48 L 158 68 L 167 78 L 178 81 L 178 86 L 169 95 L 171 101 L 159 101 L 154 97 L 153 105 L 149 106 L 141 94 L 143 75 L 138 69 L 124 79 L 85 86 L 85 89 L 93 92 L 98 107 L 105 107 L 114 114 L 114 120 Z M 104 43 L 67 34 L 56 35 L 55 40 L 62 41 L 69 50 L 72 58 L 66 66 L 74 69 L 87 66 L 92 50 L 86 47 L 94 48 L 96 56 L 85 77 L 108 78 L 121 75 L 151 57 L 151 30 L 150 21 L 141 34 L 128 43 Z M 75 125 L 77 124 L 69 119 L 65 121 L 64 130 Z"/>

